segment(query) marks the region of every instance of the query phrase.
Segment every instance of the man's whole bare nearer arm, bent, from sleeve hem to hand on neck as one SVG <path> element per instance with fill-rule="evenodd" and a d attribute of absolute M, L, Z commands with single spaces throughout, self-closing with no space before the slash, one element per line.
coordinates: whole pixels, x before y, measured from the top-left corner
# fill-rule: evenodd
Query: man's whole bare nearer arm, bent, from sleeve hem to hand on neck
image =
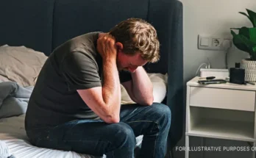
<path fill-rule="evenodd" d="M 102 39 L 103 38 L 103 39 Z M 110 37 L 98 40 L 99 53 L 103 60 L 102 87 L 93 87 L 87 90 L 77 90 L 83 101 L 106 123 L 118 123 L 121 107 L 121 90 L 116 66 L 115 41 Z M 109 46 L 110 48 L 107 48 Z M 98 49 L 98 48 L 97 48 Z"/>

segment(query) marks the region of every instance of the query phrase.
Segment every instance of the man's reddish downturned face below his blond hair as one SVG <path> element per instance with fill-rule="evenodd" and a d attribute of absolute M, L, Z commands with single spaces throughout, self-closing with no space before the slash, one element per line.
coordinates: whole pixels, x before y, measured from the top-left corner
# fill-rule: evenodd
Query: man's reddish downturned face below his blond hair
<path fill-rule="evenodd" d="M 116 57 L 116 64 L 118 71 L 124 70 L 134 73 L 138 66 L 143 66 L 146 64 L 146 60 L 143 60 L 140 53 L 135 55 L 127 55 L 121 49 L 118 49 L 118 54 Z"/>

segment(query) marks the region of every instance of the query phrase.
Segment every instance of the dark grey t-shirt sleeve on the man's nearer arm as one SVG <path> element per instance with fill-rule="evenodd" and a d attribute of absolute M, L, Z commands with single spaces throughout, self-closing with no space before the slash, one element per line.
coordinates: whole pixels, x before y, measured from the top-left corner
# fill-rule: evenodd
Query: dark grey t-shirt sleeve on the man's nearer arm
<path fill-rule="evenodd" d="M 64 58 L 62 67 L 68 90 L 102 87 L 98 66 L 88 54 L 72 52 Z"/>

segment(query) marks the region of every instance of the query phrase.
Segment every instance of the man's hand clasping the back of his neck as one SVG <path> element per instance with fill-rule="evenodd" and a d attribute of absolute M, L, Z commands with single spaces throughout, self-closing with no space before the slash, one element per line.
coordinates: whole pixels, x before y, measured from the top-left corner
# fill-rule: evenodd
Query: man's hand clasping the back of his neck
<path fill-rule="evenodd" d="M 117 54 L 115 38 L 108 33 L 100 34 L 97 40 L 97 51 L 101 54 L 104 60 L 115 61 Z"/>

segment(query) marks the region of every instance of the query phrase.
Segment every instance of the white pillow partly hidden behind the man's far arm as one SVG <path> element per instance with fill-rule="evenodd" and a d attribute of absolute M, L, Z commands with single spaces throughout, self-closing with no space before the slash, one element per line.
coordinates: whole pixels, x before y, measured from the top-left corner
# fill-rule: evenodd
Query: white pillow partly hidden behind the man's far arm
<path fill-rule="evenodd" d="M 153 85 L 154 102 L 161 103 L 166 97 L 168 75 L 162 73 L 147 73 Z M 127 90 L 121 85 L 121 104 L 135 104 L 129 97 Z"/>

